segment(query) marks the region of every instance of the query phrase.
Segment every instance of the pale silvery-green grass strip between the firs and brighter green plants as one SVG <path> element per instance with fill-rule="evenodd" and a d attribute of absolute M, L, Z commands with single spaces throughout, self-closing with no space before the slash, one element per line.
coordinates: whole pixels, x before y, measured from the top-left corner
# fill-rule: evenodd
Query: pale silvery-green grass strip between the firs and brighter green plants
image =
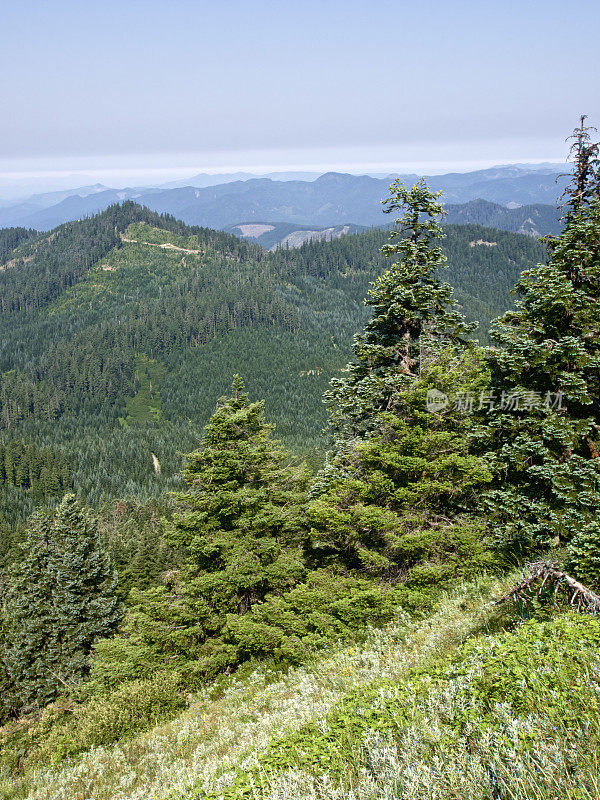
<path fill-rule="evenodd" d="M 438 653 L 454 650 L 486 624 L 490 597 L 503 594 L 508 585 L 507 580 L 480 577 L 442 597 L 422 620 L 411 620 L 399 611 L 385 629 L 365 630 L 361 646 L 338 646 L 324 660 L 283 673 L 263 663 L 254 672 L 220 678 L 189 697 L 189 709 L 176 719 L 54 767 L 44 767 L 41 754 L 36 756 L 36 747 L 43 744 L 39 723 L 23 719 L 17 723 L 22 726 L 20 733 L 10 726 L 2 730 L 5 768 L 0 771 L 0 797 L 165 800 L 176 787 L 187 787 L 191 796 L 199 781 L 216 787 L 221 779 L 215 776 L 224 768 L 233 768 L 240 758 L 253 759 L 283 731 L 324 717 L 355 688 L 397 680 Z M 105 699 L 110 704 L 110 697 Z M 61 717 L 58 709 L 49 710 L 51 715 L 57 724 L 68 721 L 68 714 Z M 48 725 L 44 730 L 47 736 Z M 21 764 L 20 777 L 8 771 L 9 762 Z"/>

